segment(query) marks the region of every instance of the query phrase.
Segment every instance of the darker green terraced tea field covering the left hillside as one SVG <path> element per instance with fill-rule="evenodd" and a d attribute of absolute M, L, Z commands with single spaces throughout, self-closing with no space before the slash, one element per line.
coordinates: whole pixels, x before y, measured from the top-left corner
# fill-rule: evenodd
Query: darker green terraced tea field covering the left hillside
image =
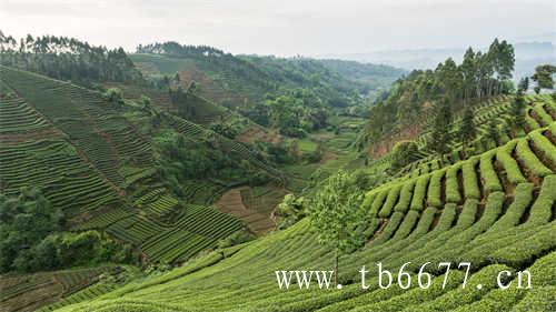
<path fill-rule="evenodd" d="M 106 231 L 151 262 L 185 261 L 244 227 L 214 208 L 183 205 L 161 187 L 150 140 L 101 93 L 7 67 L 0 77 L 2 193 L 40 188 L 71 219 L 72 231 Z M 187 135 L 209 133 L 175 118 Z M 196 184 L 208 193 L 202 203 L 211 200 L 207 185 Z M 190 191 L 191 199 L 201 198 Z"/>

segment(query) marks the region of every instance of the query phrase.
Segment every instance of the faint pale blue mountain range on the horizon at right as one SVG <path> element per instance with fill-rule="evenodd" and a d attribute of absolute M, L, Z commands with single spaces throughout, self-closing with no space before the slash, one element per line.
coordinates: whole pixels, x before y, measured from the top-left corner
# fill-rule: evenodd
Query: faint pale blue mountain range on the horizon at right
<path fill-rule="evenodd" d="M 556 63 L 556 47 L 545 41 L 519 42 L 514 44 L 516 52 L 515 79 L 532 74 L 535 67 L 540 63 Z M 481 50 L 487 50 L 483 48 Z M 451 57 L 457 62 L 461 61 L 466 48 L 447 49 L 414 49 L 414 50 L 385 50 L 351 54 L 327 56 L 344 60 L 373 62 L 413 69 L 434 69 L 436 66 Z"/>

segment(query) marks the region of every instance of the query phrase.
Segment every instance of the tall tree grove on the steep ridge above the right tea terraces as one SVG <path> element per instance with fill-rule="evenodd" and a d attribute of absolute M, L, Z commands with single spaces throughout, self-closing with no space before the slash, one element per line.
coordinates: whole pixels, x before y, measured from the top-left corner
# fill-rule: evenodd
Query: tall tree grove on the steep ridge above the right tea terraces
<path fill-rule="evenodd" d="M 512 92 L 514 63 L 513 46 L 495 39 L 486 52 L 467 49 L 460 64 L 449 58 L 435 70 L 411 71 L 371 109 L 364 142 L 416 127 L 415 121 L 430 107 L 457 111 L 470 102 Z"/>

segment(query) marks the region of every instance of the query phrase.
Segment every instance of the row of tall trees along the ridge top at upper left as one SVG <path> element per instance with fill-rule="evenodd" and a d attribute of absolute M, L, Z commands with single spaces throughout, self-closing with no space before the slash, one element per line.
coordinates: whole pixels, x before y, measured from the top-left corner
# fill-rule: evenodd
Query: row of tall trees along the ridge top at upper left
<path fill-rule="evenodd" d="M 0 62 L 60 80 L 142 81 L 123 49 L 108 50 L 73 38 L 28 34 L 18 42 L 0 31 Z"/>

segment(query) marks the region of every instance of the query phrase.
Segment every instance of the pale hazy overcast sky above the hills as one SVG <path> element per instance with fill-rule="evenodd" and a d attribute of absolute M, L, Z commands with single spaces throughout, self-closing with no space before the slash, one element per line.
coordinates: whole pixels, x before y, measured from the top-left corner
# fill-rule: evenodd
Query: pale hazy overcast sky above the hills
<path fill-rule="evenodd" d="M 173 40 L 232 53 L 315 56 L 486 46 L 556 30 L 554 0 L 0 0 L 0 30 L 133 51 Z"/>

